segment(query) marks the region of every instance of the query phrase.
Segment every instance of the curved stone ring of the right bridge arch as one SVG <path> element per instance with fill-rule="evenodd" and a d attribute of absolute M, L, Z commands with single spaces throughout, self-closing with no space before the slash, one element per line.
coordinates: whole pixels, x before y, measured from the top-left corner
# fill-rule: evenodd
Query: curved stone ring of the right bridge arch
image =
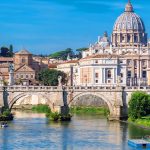
<path fill-rule="evenodd" d="M 75 94 L 73 96 L 73 98 L 69 101 L 68 105 L 71 106 L 71 103 L 73 101 L 77 101 L 80 97 L 82 96 L 86 96 L 86 95 L 92 95 L 92 96 L 96 96 L 96 97 L 99 97 L 100 99 L 102 99 L 108 106 L 109 108 L 109 111 L 110 111 L 110 114 L 113 114 L 113 110 L 114 110 L 114 106 L 113 106 L 113 103 L 111 102 L 110 99 L 108 99 L 106 96 L 104 96 L 103 94 L 101 93 L 95 93 L 95 92 L 86 92 L 86 93 L 79 93 L 79 94 Z"/>

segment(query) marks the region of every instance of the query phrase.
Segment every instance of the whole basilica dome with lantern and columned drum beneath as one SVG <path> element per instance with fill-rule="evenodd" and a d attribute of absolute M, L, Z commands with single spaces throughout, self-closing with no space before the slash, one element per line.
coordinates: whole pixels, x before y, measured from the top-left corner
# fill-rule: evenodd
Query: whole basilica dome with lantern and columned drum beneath
<path fill-rule="evenodd" d="M 128 0 L 125 11 L 116 20 L 112 33 L 113 46 L 140 46 L 147 44 L 147 33 L 142 19 L 134 13 Z"/>

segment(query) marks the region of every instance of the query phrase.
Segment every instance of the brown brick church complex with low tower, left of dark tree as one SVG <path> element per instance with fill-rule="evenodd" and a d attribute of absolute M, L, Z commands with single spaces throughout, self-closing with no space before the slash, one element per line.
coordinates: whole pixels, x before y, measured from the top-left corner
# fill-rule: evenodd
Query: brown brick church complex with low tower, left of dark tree
<path fill-rule="evenodd" d="M 13 57 L 0 57 L 0 78 L 6 85 L 9 84 L 9 67 L 13 64 L 14 84 L 37 85 L 38 72 L 48 68 L 48 62 L 48 58 L 33 56 L 27 50 L 20 50 Z"/>

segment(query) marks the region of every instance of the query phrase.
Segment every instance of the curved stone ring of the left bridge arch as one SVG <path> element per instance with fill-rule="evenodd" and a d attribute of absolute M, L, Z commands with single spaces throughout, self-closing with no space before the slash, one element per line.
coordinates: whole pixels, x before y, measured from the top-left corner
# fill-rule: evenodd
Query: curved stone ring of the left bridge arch
<path fill-rule="evenodd" d="M 13 97 L 12 99 L 8 99 L 8 106 L 9 106 L 9 109 L 11 110 L 13 105 L 18 101 L 20 100 L 21 98 L 26 98 L 27 96 L 33 96 L 33 95 L 40 95 L 42 96 L 47 104 L 49 105 L 50 109 L 53 110 L 54 109 L 54 103 L 50 100 L 50 98 L 46 95 L 46 94 L 42 94 L 42 93 L 20 93 L 18 95 L 16 95 L 15 97 Z"/>

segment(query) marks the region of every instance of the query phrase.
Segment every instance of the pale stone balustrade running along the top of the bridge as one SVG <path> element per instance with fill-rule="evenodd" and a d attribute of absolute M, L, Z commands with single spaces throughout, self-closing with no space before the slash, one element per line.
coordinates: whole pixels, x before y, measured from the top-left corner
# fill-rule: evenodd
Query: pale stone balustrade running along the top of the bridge
<path fill-rule="evenodd" d="M 38 91 L 38 92 L 53 92 L 53 91 L 150 91 L 150 86 L 126 86 L 126 87 L 117 87 L 117 86 L 0 86 L 0 91 L 7 90 L 10 92 L 16 91 Z"/>

